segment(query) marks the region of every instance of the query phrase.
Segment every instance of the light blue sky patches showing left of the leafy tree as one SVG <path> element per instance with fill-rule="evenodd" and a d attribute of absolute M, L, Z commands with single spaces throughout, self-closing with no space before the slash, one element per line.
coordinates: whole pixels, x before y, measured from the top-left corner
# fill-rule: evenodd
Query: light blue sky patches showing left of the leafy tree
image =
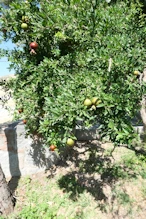
<path fill-rule="evenodd" d="M 6 49 L 11 50 L 14 48 L 14 44 L 12 44 L 11 41 L 3 42 L 0 44 L 0 48 L 2 48 L 2 49 L 6 48 Z M 8 69 L 9 64 L 10 64 L 10 62 L 8 62 L 6 57 L 3 57 L 0 59 L 0 77 L 15 73 L 14 70 L 9 71 L 9 69 Z"/>

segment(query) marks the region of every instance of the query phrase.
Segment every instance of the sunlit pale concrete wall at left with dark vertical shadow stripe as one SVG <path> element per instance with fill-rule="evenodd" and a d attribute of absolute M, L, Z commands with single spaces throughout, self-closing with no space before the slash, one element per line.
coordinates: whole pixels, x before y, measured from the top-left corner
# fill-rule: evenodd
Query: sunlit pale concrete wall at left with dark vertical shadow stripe
<path fill-rule="evenodd" d="M 0 129 L 0 163 L 6 177 L 30 175 L 48 169 L 58 156 L 42 142 L 25 136 L 22 122 Z"/>

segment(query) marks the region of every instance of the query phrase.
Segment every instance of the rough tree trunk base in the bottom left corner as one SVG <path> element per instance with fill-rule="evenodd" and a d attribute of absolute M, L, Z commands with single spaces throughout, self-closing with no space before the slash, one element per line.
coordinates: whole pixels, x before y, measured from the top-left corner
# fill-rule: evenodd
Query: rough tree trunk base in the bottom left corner
<path fill-rule="evenodd" d="M 7 185 L 5 175 L 0 165 L 0 215 L 8 215 L 13 212 L 14 197 Z"/>

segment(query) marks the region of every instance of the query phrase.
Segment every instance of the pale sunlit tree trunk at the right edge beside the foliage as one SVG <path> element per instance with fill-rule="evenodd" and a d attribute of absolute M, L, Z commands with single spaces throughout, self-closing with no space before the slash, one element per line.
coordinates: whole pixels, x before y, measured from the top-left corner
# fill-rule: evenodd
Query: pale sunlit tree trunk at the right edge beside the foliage
<path fill-rule="evenodd" d="M 142 79 L 140 83 L 142 81 L 146 83 L 146 68 L 143 71 L 143 75 L 142 75 Z M 146 134 L 146 96 L 143 96 L 142 101 L 141 101 L 140 115 L 141 115 L 141 119 L 143 122 L 144 134 Z"/>

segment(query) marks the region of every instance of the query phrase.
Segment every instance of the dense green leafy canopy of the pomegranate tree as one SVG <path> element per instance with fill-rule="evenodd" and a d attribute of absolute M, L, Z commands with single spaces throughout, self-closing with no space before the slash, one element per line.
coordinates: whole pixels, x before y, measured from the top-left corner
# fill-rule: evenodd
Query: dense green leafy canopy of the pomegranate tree
<path fill-rule="evenodd" d="M 27 120 L 28 134 L 40 133 L 46 144 L 59 147 L 75 139 L 81 120 L 85 126 L 99 122 L 102 136 L 117 144 L 131 144 L 131 118 L 145 94 L 133 74 L 146 62 L 140 2 L 28 0 L 1 11 L 1 36 L 16 45 L 2 54 L 16 72 L 16 117 L 23 108 L 19 116 Z M 30 53 L 33 41 L 36 54 Z M 101 100 L 94 109 L 83 104 L 92 97 Z"/>

